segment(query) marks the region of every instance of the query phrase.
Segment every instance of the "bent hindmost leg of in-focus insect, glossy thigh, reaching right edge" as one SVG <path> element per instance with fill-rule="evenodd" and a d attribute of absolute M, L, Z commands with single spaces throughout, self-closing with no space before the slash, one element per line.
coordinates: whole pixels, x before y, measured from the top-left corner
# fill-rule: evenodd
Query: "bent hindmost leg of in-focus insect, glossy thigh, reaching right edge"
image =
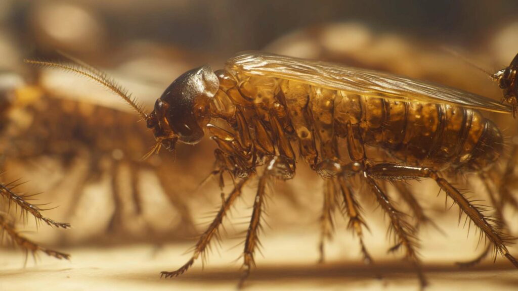
<path fill-rule="evenodd" d="M 470 220 L 476 225 L 485 237 L 492 243 L 495 250 L 505 256 L 511 263 L 518 268 L 518 261 L 509 253 L 507 245 L 513 240 L 509 235 L 504 234 L 490 222 L 494 222 L 491 217 L 482 214 L 477 205 L 473 205 L 464 195 L 461 194 L 448 181 L 439 177 L 436 171 L 422 167 L 407 167 L 392 163 L 382 163 L 372 165 L 367 169 L 368 173 L 378 179 L 408 180 L 415 178 L 431 178 L 441 187 L 441 189 L 455 201 L 461 210 L 468 215 Z"/>

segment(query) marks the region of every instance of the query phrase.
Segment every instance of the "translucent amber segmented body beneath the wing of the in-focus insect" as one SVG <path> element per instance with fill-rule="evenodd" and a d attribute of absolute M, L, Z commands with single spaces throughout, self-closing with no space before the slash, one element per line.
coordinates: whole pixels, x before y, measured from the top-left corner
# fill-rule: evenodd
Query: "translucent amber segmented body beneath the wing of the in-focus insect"
<path fill-rule="evenodd" d="M 218 75 L 216 98 L 225 93 L 227 103 L 245 112 L 252 132 L 247 135 L 266 154 L 293 155 L 292 140 L 314 166 L 336 159 L 344 146 L 352 159 L 362 159 L 366 145 L 406 165 L 475 170 L 502 152 L 498 128 L 469 108 L 360 96 L 278 78 Z"/>

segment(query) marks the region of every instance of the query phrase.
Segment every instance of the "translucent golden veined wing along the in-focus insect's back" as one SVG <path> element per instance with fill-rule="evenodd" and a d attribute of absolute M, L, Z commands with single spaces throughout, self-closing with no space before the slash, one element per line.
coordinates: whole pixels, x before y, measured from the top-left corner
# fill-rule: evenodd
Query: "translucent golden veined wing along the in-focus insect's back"
<path fill-rule="evenodd" d="M 264 52 L 239 53 L 227 61 L 226 69 L 234 74 L 277 77 L 364 96 L 511 112 L 510 106 L 498 101 L 440 84 Z"/>

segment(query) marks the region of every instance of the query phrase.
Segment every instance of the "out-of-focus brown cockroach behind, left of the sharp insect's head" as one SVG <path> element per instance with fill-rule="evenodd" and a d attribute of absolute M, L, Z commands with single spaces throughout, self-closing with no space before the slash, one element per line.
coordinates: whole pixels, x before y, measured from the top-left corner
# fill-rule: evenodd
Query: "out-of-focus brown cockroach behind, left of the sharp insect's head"
<path fill-rule="evenodd" d="M 56 96 L 41 81 L 26 87 L 26 90 L 20 89 L 14 97 L 15 103 L 18 101 L 23 105 L 13 107 L 30 116 L 30 122 L 16 126 L 16 121 L 11 121 L 15 124 L 16 130 L 11 130 L 12 133 L 3 136 L 3 139 L 8 139 L 9 145 L 5 149 L 8 151 L 5 159 L 24 165 L 34 163 L 41 157 L 50 157 L 58 161 L 65 172 L 73 171 L 78 160 L 86 161 L 85 174 L 77 178 L 74 188 L 69 191 L 70 205 L 65 207 L 65 216 L 70 219 L 81 207 L 79 201 L 84 187 L 99 182 L 103 173 L 108 173 L 114 211 L 106 231 L 118 232 L 120 236 L 127 235 L 122 231 L 125 226 L 123 208 L 127 201 L 121 197 L 120 191 L 125 181 L 118 174 L 121 168 L 127 167 L 134 214 L 138 216 L 144 211 L 140 173 L 150 171 L 156 175 L 170 204 L 180 216 L 175 228 L 177 238 L 194 234 L 194 222 L 186 199 L 178 195 L 178 181 L 168 177 L 171 170 L 174 170 L 169 165 L 175 157 L 164 154 L 146 161 L 141 160 L 143 153 L 149 148 L 146 144 L 149 131 L 137 123 L 138 117 L 120 108 L 96 104 L 95 100 Z M 29 88 L 33 89 L 33 96 L 24 96 L 24 92 Z M 9 120 L 6 120 L 6 123 L 8 122 Z M 180 164 L 186 164 L 182 157 L 179 157 L 178 161 Z M 61 182 L 65 182 L 65 179 L 68 178 L 65 177 Z M 163 237 L 163 234 L 155 235 Z M 138 239 L 140 236 L 135 238 Z M 124 239 L 127 240 L 127 237 Z"/>

